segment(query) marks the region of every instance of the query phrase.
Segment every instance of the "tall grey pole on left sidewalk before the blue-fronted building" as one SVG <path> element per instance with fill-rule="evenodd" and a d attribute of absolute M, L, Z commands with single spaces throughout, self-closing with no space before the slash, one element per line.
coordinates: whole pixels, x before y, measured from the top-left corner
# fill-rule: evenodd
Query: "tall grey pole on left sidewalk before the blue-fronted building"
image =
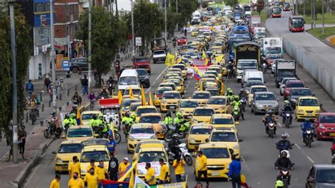
<path fill-rule="evenodd" d="M 52 64 L 52 107 L 53 112 L 57 112 L 57 95 L 56 95 L 56 64 L 54 64 L 54 5 L 52 0 L 50 4 L 50 40 L 51 40 L 51 64 Z"/>

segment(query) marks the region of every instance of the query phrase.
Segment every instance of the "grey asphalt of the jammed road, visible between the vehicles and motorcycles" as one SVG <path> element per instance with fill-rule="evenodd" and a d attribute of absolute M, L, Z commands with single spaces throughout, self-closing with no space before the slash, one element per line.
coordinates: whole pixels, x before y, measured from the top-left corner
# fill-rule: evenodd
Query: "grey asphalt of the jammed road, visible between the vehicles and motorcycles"
<path fill-rule="evenodd" d="M 161 82 L 162 73 L 165 70 L 164 64 L 152 64 L 152 75 L 151 75 L 151 88 L 146 89 L 155 91 L 158 84 Z M 269 90 L 273 91 L 277 98 L 280 98 L 279 103 L 283 104 L 283 98 L 278 93 L 278 88 L 275 87 L 274 77 L 268 71 L 264 76 L 266 80 L 266 86 Z M 192 95 L 195 87 L 195 79 L 189 78 L 186 81 L 186 93 L 184 98 L 188 98 Z M 232 88 L 235 93 L 240 90 L 240 83 L 237 83 L 235 79 L 227 80 L 227 87 Z M 277 136 L 274 139 L 270 139 L 266 136 L 264 131 L 264 125 L 261 123 L 263 115 L 254 115 L 250 112 L 250 108 L 247 107 L 245 112 L 245 120 L 240 121 L 237 125 L 239 131 L 239 139 L 243 139 L 240 143 L 242 153 L 242 170 L 247 176 L 247 183 L 251 187 L 269 188 L 274 187 L 276 181 L 277 170 L 274 169 L 274 162 L 278 158 L 278 151 L 276 150 L 275 143 L 281 139 L 281 133 L 286 131 L 289 135 L 288 139 L 295 143 L 293 151 L 290 151 L 291 160 L 295 163 L 295 170 L 291 172 L 292 180 L 290 187 L 305 187 L 305 179 L 310 167 L 313 164 L 330 163 L 329 148 L 331 143 L 329 141 L 315 141 L 312 143 L 312 148 L 307 148 L 301 141 L 301 122 L 293 120 L 293 125 L 290 129 L 278 127 Z M 119 160 L 124 156 L 132 158 L 132 155 L 127 154 L 127 145 L 122 134 L 122 142 L 119 143 Z M 47 149 L 45 155 L 30 177 L 27 178 L 25 187 L 47 187 L 49 182 L 54 177 L 54 155 L 52 151 L 57 151 L 61 140 L 54 141 L 51 146 Z M 194 168 L 186 167 L 189 187 L 193 187 L 196 184 L 194 178 Z M 66 187 L 69 181 L 68 175 L 62 175 L 61 187 Z M 172 172 L 172 182 L 175 182 L 175 177 Z M 230 182 L 222 180 L 211 180 L 210 187 L 230 187 Z"/>

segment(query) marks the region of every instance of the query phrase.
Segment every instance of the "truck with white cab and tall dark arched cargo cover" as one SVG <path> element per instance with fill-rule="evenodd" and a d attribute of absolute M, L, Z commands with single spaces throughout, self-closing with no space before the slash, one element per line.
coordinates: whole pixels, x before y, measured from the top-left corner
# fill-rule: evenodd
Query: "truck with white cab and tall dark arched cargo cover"
<path fill-rule="evenodd" d="M 241 42 L 235 47 L 235 72 L 237 82 L 242 79 L 245 69 L 259 69 L 261 61 L 261 47 L 257 42 Z"/>

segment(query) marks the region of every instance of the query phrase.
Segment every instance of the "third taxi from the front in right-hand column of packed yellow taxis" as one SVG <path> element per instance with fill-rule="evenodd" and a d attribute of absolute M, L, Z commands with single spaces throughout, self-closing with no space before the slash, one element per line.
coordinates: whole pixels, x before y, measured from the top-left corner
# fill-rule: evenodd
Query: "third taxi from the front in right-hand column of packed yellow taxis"
<path fill-rule="evenodd" d="M 236 125 L 240 124 L 240 122 L 235 122 L 232 114 L 213 114 L 210 124 L 213 125 L 215 129 L 232 129 L 237 134 Z"/>

